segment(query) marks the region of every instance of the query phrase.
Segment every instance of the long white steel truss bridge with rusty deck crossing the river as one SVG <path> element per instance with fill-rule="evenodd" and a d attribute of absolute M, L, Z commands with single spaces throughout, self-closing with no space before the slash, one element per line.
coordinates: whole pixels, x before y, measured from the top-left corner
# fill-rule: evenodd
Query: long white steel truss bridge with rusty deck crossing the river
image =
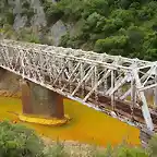
<path fill-rule="evenodd" d="M 140 128 L 156 129 L 157 62 L 1 39 L 0 67 Z"/>

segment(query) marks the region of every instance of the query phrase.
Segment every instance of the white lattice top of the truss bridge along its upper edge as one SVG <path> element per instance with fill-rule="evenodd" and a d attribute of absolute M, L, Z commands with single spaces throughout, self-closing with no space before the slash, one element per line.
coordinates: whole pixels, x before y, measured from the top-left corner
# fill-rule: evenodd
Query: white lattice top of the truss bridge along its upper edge
<path fill-rule="evenodd" d="M 137 69 L 150 68 L 153 65 L 157 65 L 156 62 L 144 61 L 140 59 L 129 59 L 121 56 L 110 56 L 107 53 L 96 53 L 94 51 L 83 51 L 81 49 L 72 49 L 72 48 L 63 48 L 63 47 L 55 47 L 48 45 L 39 45 L 33 43 L 24 43 L 24 41 L 15 41 L 9 39 L 1 39 L 1 46 L 5 47 L 14 47 L 20 49 L 31 49 L 34 51 L 43 51 L 47 55 L 56 55 L 56 56 L 64 56 L 71 57 L 75 59 L 88 60 L 90 62 L 102 63 L 110 67 L 117 67 L 120 69 L 131 70 L 132 64 L 136 65 Z M 117 62 L 117 64 L 112 64 Z M 135 67 L 134 67 L 135 68 Z"/>

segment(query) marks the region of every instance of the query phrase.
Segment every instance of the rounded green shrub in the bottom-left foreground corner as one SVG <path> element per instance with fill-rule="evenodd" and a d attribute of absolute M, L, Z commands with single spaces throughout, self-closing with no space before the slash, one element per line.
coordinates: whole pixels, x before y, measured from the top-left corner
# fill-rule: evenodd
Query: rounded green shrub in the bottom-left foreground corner
<path fill-rule="evenodd" d="M 9 121 L 0 123 L 1 157 L 41 157 L 44 144 L 31 129 Z"/>

